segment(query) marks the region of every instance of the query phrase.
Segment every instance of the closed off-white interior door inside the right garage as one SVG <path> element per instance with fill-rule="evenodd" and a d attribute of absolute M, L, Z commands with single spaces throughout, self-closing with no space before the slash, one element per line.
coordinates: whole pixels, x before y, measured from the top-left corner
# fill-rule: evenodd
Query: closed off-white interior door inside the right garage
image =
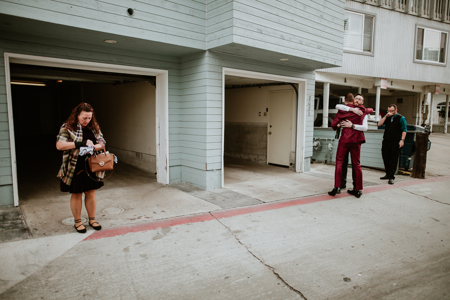
<path fill-rule="evenodd" d="M 293 91 L 269 92 L 267 163 L 289 166 Z"/>

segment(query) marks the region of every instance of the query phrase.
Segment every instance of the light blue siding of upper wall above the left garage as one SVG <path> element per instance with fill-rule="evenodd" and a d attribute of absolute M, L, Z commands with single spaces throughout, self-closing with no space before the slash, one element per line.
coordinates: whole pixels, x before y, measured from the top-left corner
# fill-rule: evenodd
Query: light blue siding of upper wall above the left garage
<path fill-rule="evenodd" d="M 2 0 L 0 7 L 1 13 L 12 16 L 151 40 L 168 45 L 205 49 L 205 0 L 145 2 L 132 0 Z M 127 15 L 128 8 L 135 10 L 134 16 Z M 51 32 L 49 33 L 51 34 Z"/>

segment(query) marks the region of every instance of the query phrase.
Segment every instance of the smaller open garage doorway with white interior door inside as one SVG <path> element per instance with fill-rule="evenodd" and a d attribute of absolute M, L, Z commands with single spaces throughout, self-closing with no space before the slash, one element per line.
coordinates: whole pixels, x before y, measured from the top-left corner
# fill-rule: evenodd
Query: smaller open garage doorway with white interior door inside
<path fill-rule="evenodd" d="M 222 187 L 301 172 L 306 81 L 224 68 L 223 82 Z"/>

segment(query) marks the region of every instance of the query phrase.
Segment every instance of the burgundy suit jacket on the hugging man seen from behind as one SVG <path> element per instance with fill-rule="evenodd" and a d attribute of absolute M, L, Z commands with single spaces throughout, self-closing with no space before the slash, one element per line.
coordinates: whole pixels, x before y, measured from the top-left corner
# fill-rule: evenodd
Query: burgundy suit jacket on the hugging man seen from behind
<path fill-rule="evenodd" d="M 331 123 L 331 128 L 333 130 L 338 129 L 338 124 L 340 121 L 351 121 L 353 124 L 356 125 L 362 125 L 364 116 L 374 112 L 372 108 L 365 108 L 363 105 L 354 105 L 354 104 L 348 104 L 349 107 L 356 107 L 359 108 L 363 115 L 358 116 L 354 112 L 345 112 L 342 110 L 338 110 L 338 114 L 334 118 L 333 122 Z M 341 137 L 339 138 L 339 143 L 365 143 L 365 137 L 364 132 L 360 130 L 355 130 L 353 128 L 342 128 L 341 131 Z"/>

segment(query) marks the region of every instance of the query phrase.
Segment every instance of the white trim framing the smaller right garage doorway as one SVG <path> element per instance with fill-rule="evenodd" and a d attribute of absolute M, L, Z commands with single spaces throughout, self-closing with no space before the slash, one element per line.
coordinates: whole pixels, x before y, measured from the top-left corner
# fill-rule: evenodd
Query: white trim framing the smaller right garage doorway
<path fill-rule="evenodd" d="M 251 77 L 270 81 L 283 81 L 298 84 L 297 99 L 297 132 L 295 147 L 295 171 L 303 172 L 305 159 L 305 128 L 306 128 L 306 79 L 290 76 L 274 75 L 245 71 L 232 68 L 222 68 L 222 188 L 224 186 L 224 143 L 225 143 L 225 75 Z"/>

